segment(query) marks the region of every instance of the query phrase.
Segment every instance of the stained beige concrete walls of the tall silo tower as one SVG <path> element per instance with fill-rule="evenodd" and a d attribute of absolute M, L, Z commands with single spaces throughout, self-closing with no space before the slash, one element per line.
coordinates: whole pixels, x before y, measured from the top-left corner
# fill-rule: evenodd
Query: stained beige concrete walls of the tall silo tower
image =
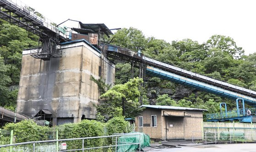
<path fill-rule="evenodd" d="M 99 78 L 100 53 L 83 42 L 62 47 L 62 57 L 50 61 L 22 56 L 17 111 L 33 117 L 40 109 L 48 109 L 53 125 L 58 124 L 57 118 L 95 119 L 93 103 L 98 104 L 99 92 L 90 76 Z M 113 76 L 114 65 L 108 66 Z M 113 82 L 110 77 L 109 83 Z"/>

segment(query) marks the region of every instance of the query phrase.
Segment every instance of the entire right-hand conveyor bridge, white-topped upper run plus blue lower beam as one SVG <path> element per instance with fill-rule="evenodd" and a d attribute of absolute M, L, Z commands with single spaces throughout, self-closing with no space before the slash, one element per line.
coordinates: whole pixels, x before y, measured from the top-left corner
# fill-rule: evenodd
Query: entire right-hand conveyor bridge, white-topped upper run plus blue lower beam
<path fill-rule="evenodd" d="M 210 92 L 225 98 L 243 98 L 245 103 L 256 107 L 256 92 L 247 88 L 238 87 L 225 81 L 219 81 L 208 76 L 203 76 L 191 71 L 186 71 L 174 65 L 147 58 L 141 53 L 118 46 L 103 44 L 107 47 L 108 57 L 133 61 L 144 64 L 147 75 L 157 76 L 162 79 L 174 81 L 198 90 Z"/>

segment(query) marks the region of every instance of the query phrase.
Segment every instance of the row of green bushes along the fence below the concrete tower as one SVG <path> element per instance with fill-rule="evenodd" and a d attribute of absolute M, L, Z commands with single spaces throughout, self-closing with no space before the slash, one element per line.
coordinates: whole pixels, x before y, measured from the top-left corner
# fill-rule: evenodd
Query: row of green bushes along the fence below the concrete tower
<path fill-rule="evenodd" d="M 58 129 L 59 139 L 107 136 L 113 133 L 130 132 L 128 122 L 124 117 L 114 117 L 106 123 L 96 120 L 84 119 L 80 123 L 59 125 L 57 128 L 49 128 L 37 125 L 32 120 L 22 120 L 19 123 L 8 123 L 3 129 L 14 130 L 15 143 L 27 141 L 47 141 L 56 139 Z M 68 149 L 82 148 L 82 140 L 66 141 Z M 85 147 L 98 147 L 112 144 L 112 138 L 89 139 L 84 141 Z M 96 150 L 101 152 L 102 150 Z"/>

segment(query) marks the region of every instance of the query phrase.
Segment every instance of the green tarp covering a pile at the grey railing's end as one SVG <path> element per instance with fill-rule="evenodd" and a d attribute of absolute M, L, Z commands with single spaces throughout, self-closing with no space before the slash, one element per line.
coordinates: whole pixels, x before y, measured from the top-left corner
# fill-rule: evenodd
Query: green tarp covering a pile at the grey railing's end
<path fill-rule="evenodd" d="M 141 148 L 150 146 L 150 138 L 147 134 L 144 134 L 143 132 L 130 132 L 130 133 L 140 133 L 140 135 L 120 136 L 118 139 L 118 145 L 140 142 Z M 139 149 L 139 144 L 124 145 L 124 146 L 118 146 L 117 151 L 118 152 L 135 152 L 137 148 Z"/>

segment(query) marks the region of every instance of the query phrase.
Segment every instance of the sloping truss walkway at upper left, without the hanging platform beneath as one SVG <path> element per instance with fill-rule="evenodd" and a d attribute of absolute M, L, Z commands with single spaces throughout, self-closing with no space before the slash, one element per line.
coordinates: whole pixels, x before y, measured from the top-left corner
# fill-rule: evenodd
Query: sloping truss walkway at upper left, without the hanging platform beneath
<path fill-rule="evenodd" d="M 38 35 L 40 38 L 50 37 L 56 39 L 59 30 L 47 18 L 39 17 L 31 11 L 31 7 L 17 0 L 0 0 L 0 18 L 22 27 Z M 64 35 L 59 36 L 60 41 L 66 42 Z"/>

